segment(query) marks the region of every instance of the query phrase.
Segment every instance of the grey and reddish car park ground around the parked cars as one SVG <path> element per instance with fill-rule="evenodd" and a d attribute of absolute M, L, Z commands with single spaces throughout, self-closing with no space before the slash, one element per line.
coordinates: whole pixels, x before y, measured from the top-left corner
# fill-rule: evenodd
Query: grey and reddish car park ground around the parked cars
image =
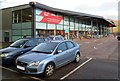
<path fill-rule="evenodd" d="M 118 41 L 115 37 L 101 39 L 74 39 L 80 44 L 81 60 L 69 63 L 57 69 L 53 76 L 25 75 L 17 72 L 15 66 L 0 66 L 2 80 L 80 80 L 80 81 L 119 81 L 118 77 Z"/>

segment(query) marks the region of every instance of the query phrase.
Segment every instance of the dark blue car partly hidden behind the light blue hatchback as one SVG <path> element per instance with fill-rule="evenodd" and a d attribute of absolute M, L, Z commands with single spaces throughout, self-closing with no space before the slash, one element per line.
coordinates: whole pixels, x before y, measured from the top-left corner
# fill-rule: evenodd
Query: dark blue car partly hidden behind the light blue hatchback
<path fill-rule="evenodd" d="M 18 56 L 45 41 L 45 38 L 23 38 L 15 41 L 9 47 L 0 50 L 2 64 L 13 64 Z"/>

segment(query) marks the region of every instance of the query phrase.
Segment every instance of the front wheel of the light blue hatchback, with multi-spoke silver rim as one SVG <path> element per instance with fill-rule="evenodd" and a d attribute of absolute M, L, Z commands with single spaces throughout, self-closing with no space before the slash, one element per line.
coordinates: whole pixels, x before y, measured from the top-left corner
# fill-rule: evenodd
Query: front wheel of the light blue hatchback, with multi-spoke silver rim
<path fill-rule="evenodd" d="M 54 70 L 55 70 L 55 65 L 53 63 L 47 64 L 47 66 L 45 67 L 44 76 L 45 77 L 52 76 L 54 74 Z"/>

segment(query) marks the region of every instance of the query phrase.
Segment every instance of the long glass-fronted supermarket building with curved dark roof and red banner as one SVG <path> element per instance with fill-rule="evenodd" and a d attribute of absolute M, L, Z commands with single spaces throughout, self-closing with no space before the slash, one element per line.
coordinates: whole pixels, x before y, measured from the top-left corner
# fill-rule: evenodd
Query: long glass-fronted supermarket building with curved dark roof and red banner
<path fill-rule="evenodd" d="M 0 10 L 2 42 L 13 42 L 18 38 L 41 35 L 62 35 L 91 38 L 110 34 L 115 27 L 112 21 L 101 16 L 52 8 L 37 2 Z"/>

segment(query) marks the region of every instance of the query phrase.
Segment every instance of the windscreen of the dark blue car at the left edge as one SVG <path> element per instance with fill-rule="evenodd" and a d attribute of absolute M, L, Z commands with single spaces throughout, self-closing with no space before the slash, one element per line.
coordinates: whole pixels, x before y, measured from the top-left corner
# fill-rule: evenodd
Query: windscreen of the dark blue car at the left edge
<path fill-rule="evenodd" d="M 29 39 L 19 39 L 12 43 L 10 47 L 21 48 Z"/>

